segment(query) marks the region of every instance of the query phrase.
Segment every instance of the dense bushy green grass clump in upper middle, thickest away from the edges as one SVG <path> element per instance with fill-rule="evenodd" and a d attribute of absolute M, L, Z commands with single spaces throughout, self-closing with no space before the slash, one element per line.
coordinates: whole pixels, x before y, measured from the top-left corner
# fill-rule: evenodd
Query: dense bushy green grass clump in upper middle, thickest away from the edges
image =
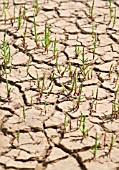
<path fill-rule="evenodd" d="M 45 47 L 45 51 L 48 53 L 49 46 L 51 44 L 51 32 L 50 27 L 47 22 L 45 23 L 44 37 L 43 37 L 43 47 Z"/>

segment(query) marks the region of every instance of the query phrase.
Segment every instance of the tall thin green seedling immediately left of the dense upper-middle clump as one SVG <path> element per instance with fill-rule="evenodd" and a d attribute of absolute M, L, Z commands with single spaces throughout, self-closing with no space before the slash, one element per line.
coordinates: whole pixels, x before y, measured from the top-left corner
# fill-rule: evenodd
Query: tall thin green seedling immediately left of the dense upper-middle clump
<path fill-rule="evenodd" d="M 33 30 L 33 34 L 34 34 L 34 38 L 33 38 L 33 40 L 34 40 L 34 42 L 36 43 L 36 47 L 38 48 L 39 47 L 39 38 L 40 38 L 40 36 L 39 36 L 39 34 L 37 34 L 37 28 L 36 28 L 36 17 L 35 17 L 35 15 L 34 15 L 34 30 Z"/>

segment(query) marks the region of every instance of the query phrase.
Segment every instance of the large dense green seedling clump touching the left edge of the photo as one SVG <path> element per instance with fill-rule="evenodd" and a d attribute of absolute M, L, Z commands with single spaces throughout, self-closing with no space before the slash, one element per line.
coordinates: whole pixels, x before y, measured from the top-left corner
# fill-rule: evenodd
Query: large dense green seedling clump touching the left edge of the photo
<path fill-rule="evenodd" d="M 6 40 L 6 32 L 4 33 L 3 43 L 1 45 L 1 54 L 3 57 L 3 70 L 6 73 L 7 65 L 9 64 L 11 59 L 10 46 Z"/>

